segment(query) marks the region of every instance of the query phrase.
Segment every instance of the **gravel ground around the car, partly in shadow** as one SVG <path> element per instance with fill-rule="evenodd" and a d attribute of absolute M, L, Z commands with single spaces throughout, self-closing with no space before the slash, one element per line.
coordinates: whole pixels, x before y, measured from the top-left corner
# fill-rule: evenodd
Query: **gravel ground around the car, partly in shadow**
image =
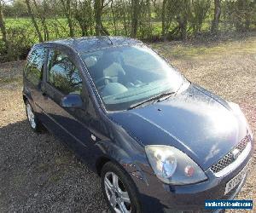
<path fill-rule="evenodd" d="M 152 46 L 192 82 L 239 103 L 256 135 L 256 37 Z M 30 130 L 21 97 L 23 65 L 0 64 L 0 212 L 108 212 L 99 177 L 54 136 Z M 254 154 L 238 196 L 254 203 L 255 161 Z"/>

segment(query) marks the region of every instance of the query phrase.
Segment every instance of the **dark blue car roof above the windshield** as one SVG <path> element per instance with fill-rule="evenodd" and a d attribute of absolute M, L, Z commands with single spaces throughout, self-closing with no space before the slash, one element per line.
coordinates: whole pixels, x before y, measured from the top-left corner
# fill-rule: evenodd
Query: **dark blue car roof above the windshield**
<path fill-rule="evenodd" d="M 90 52 L 96 49 L 105 49 L 113 46 L 123 46 L 123 45 L 134 45 L 137 43 L 142 43 L 137 39 L 130 37 L 78 37 L 78 38 L 68 38 L 61 39 L 51 42 L 45 42 L 40 44 L 59 44 L 61 46 L 68 46 L 75 49 L 79 53 Z"/>

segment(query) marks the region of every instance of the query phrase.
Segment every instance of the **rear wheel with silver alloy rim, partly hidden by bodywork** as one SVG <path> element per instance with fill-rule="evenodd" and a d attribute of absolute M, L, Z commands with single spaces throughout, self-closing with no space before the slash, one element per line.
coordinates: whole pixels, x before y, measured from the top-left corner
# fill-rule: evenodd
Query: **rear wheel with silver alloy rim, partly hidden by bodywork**
<path fill-rule="evenodd" d="M 32 105 L 27 100 L 25 101 L 25 107 L 26 107 L 26 118 L 31 129 L 37 133 L 42 132 L 43 130 L 42 124 L 39 122 L 36 116 L 36 113 L 32 108 Z"/>

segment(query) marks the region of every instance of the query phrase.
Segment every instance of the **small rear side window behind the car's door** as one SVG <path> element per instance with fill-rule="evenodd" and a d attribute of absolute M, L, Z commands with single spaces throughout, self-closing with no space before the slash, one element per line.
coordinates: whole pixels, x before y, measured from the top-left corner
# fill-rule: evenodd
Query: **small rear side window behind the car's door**
<path fill-rule="evenodd" d="M 34 85 L 38 85 L 43 78 L 45 53 L 44 48 L 38 48 L 32 50 L 27 57 L 25 76 Z"/>

